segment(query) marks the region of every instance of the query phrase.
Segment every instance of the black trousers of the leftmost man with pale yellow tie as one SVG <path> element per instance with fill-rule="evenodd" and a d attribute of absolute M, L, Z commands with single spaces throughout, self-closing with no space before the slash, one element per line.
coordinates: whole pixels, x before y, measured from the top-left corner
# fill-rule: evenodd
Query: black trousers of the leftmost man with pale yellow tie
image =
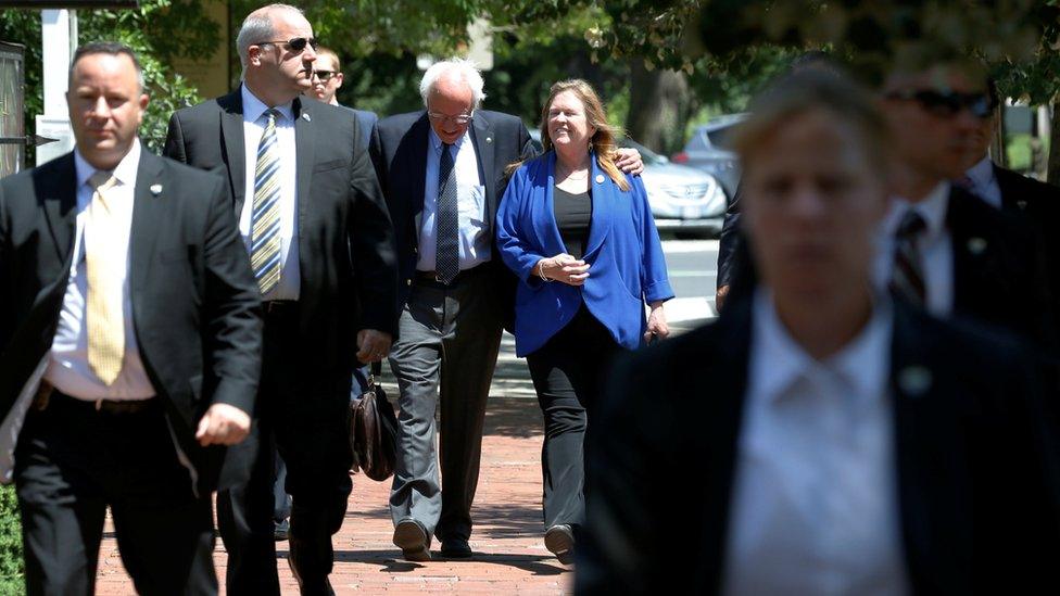
<path fill-rule="evenodd" d="M 26 417 L 15 485 L 27 594 L 94 593 L 108 506 L 137 593 L 217 593 L 210 495 L 192 493 L 157 398 L 111 414 L 53 393 Z"/>

